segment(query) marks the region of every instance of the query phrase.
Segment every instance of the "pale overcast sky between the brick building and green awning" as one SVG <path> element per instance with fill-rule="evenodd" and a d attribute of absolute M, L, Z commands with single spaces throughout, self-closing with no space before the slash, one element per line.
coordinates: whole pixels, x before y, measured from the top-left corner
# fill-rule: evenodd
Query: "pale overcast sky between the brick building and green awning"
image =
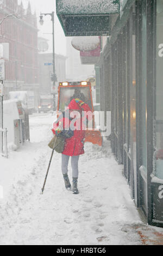
<path fill-rule="evenodd" d="M 18 0 L 20 2 L 21 0 Z M 28 6 L 28 0 L 23 0 L 24 8 Z M 46 33 L 52 33 L 52 21 L 51 16 L 46 16 L 43 18 L 45 23 L 43 26 L 39 24 L 40 13 L 52 13 L 55 11 L 55 0 L 30 0 L 32 11 L 36 11 L 38 20 L 39 36 L 47 38 L 49 44 L 49 51 L 52 52 L 52 35 Z M 55 13 L 55 53 L 63 54 L 66 56 L 66 37 L 58 17 Z"/>

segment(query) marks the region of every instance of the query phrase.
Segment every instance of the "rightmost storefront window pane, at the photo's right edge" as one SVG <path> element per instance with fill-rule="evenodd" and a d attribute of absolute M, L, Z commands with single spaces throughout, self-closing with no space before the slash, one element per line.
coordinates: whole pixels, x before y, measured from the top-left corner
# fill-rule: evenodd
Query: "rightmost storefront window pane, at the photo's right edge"
<path fill-rule="evenodd" d="M 163 1 L 156 7 L 156 173 L 163 179 Z"/>

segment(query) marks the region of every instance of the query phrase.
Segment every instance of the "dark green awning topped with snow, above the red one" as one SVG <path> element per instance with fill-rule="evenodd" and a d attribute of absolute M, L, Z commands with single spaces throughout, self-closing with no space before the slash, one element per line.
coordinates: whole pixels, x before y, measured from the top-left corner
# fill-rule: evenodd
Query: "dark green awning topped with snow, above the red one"
<path fill-rule="evenodd" d="M 56 0 L 56 10 L 66 36 L 109 35 L 120 0 Z"/>

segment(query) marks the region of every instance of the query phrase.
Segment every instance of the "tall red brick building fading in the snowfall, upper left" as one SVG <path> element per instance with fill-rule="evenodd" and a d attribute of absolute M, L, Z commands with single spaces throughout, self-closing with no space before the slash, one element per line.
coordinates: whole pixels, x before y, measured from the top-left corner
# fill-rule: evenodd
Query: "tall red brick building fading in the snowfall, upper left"
<path fill-rule="evenodd" d="M 3 20 L 4 19 L 4 20 Z M 37 21 L 30 3 L 25 10 L 17 0 L 0 3 L 0 43 L 9 42 L 9 60 L 5 60 L 5 99 L 11 90 L 34 90 L 37 94 L 38 52 Z"/>

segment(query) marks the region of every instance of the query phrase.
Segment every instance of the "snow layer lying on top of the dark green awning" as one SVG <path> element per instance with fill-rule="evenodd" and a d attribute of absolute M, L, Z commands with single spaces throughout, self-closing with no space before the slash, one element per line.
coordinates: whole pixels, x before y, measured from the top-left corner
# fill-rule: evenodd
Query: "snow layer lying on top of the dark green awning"
<path fill-rule="evenodd" d="M 115 0 L 57 0 L 59 14 L 110 14 L 119 12 Z"/>

